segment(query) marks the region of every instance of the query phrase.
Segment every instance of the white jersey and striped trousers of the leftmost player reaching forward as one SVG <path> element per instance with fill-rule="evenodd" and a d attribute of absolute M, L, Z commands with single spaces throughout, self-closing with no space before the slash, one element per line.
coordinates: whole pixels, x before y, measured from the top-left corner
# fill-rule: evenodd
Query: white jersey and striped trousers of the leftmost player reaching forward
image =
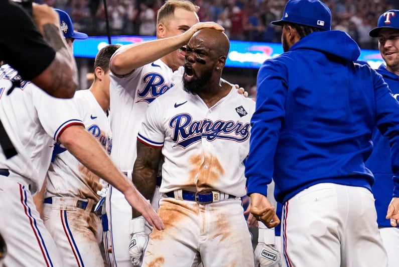
<path fill-rule="evenodd" d="M 83 122 L 73 99 L 51 97 L 26 81 L 12 90 L 16 79 L 17 71 L 8 65 L 2 66 L 0 119 L 18 151 L 10 159 L 0 152 L 0 168 L 10 172 L 0 174 L 0 231 L 8 246 L 4 263 L 7 266 L 61 266 L 56 245 L 36 210 L 31 193 L 43 184 L 54 141 L 58 141 L 66 127 L 83 125 Z"/>

